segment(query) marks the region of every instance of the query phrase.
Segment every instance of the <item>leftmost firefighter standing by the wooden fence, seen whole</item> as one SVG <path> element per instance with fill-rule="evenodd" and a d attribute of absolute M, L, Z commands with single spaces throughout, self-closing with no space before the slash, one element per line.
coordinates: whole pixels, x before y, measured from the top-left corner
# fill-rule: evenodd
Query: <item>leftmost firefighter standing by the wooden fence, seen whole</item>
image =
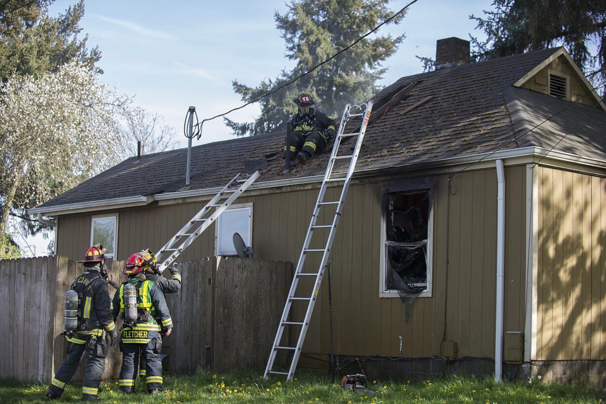
<path fill-rule="evenodd" d="M 96 401 L 108 350 L 105 332 L 111 339 L 111 346 L 118 340 L 105 280 L 105 248 L 101 244 L 93 245 L 86 251 L 84 260 L 79 262 L 84 264 L 86 271 L 65 293 L 67 357 L 48 387 L 46 396 L 50 399 L 61 397 L 83 354 L 86 354 L 82 400 Z"/>

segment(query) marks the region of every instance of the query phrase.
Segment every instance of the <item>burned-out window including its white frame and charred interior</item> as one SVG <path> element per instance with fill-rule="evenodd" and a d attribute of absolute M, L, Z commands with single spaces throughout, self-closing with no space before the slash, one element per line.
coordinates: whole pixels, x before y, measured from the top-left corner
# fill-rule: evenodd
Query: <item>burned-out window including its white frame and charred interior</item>
<path fill-rule="evenodd" d="M 431 297 L 433 188 L 385 190 L 379 296 Z"/>

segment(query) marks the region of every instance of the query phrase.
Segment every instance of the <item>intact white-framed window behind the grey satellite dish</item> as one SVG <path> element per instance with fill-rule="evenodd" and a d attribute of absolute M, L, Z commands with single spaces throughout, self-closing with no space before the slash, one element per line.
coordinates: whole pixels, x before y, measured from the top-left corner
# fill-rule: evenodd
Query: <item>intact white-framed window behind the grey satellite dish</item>
<path fill-rule="evenodd" d="M 247 247 L 253 242 L 253 204 L 231 205 L 217 219 L 216 255 L 237 255 L 233 234 L 238 233 Z"/>

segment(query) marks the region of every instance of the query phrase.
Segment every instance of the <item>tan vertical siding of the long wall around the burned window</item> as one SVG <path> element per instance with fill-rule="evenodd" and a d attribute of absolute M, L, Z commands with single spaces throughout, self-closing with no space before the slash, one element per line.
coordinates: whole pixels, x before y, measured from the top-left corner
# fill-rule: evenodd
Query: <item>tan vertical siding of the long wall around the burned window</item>
<path fill-rule="evenodd" d="M 507 167 L 507 250 L 505 326 L 522 331 L 524 325 L 525 167 Z M 435 181 L 433 204 L 433 291 L 410 306 L 405 320 L 402 300 L 379 298 L 381 244 L 381 193 L 400 180 L 354 184 L 336 232 L 330 259 L 332 271 L 335 351 L 356 356 L 439 355 L 442 336 L 458 345 L 458 356 L 493 356 L 494 282 L 496 262 L 496 170 L 456 174 L 448 190 L 448 176 Z M 325 200 L 336 200 L 340 188 L 328 188 Z M 298 190 L 243 197 L 253 203 L 255 258 L 297 262 L 318 190 Z M 156 204 L 118 210 L 118 259 L 141 248 L 158 250 L 198 211 L 204 202 Z M 330 223 L 327 208 L 322 223 Z M 114 213 L 108 211 L 108 213 Z M 90 214 L 62 216 L 59 220 L 59 254 L 76 259 L 88 247 Z M 606 218 L 604 219 L 606 220 Z M 450 222 L 450 223 L 449 223 Z M 82 233 L 82 235 L 80 234 Z M 322 242 L 326 230 L 316 231 L 312 246 Z M 75 235 L 78 234 L 78 240 Z M 79 240 L 81 237 L 84 240 Z M 72 236 L 74 235 L 74 236 Z M 183 260 L 215 253 L 214 225 L 186 251 Z M 306 271 L 317 271 L 319 254 L 309 254 Z M 447 274 L 448 273 L 448 274 Z M 447 284 L 448 277 L 448 284 Z M 328 288 L 321 294 L 305 340 L 304 351 L 326 354 L 329 349 Z M 301 289 L 311 290 L 310 279 Z M 447 300 L 446 300 L 447 299 Z M 302 316 L 302 309 L 293 316 Z M 446 331 L 444 326 L 446 325 Z M 402 352 L 400 353 L 400 337 Z M 302 366 L 325 363 L 301 357 Z"/>

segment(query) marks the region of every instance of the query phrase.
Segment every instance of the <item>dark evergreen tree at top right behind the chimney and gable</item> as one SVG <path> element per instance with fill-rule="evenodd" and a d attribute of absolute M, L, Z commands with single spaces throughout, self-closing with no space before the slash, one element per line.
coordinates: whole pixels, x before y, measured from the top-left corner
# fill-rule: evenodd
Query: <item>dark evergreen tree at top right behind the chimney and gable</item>
<path fill-rule="evenodd" d="M 606 80 L 606 1 L 494 0 L 484 17 L 471 15 L 486 41 L 471 38 L 476 60 L 564 45 L 589 79 Z"/>

